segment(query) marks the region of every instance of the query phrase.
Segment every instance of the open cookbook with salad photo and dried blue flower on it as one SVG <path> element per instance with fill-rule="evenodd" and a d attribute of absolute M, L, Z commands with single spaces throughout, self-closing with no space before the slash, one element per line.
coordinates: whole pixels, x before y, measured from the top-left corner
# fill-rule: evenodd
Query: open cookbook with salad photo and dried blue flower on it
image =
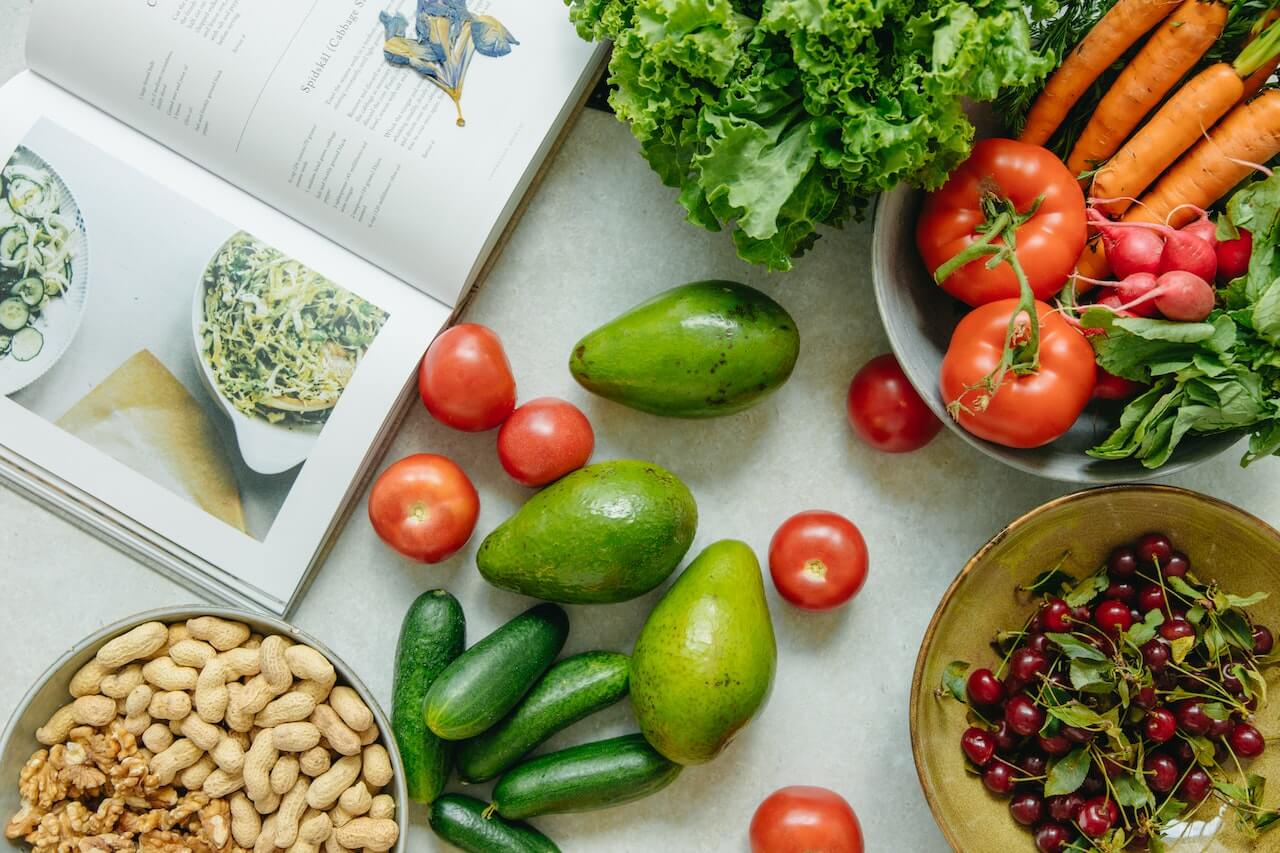
<path fill-rule="evenodd" d="M 27 58 L 0 480 L 284 613 L 602 53 L 558 3 L 37 0 Z"/>

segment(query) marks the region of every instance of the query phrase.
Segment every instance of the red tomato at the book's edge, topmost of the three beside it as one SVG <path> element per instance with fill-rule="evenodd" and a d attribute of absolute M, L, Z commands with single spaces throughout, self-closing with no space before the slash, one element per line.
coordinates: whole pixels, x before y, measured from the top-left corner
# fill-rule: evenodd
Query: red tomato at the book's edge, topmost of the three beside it
<path fill-rule="evenodd" d="M 442 424 L 483 433 L 516 407 L 516 379 L 492 329 L 463 323 L 431 342 L 417 373 L 422 403 Z"/>

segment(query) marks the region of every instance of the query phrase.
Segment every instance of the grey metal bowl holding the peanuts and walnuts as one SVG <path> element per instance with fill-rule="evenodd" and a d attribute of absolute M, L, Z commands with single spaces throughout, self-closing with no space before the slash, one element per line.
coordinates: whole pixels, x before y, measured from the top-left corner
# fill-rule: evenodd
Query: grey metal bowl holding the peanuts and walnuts
<path fill-rule="evenodd" d="M 381 733 L 379 743 L 387 747 L 387 753 L 392 760 L 392 770 L 394 771 L 394 777 L 387 793 L 396 799 L 396 822 L 399 825 L 399 840 L 392 848 L 392 852 L 404 853 L 408 849 L 408 793 L 404 788 L 404 766 L 401 763 L 399 749 L 396 748 L 396 742 L 392 738 L 390 722 L 369 689 L 351 667 L 330 652 L 324 643 L 293 625 L 270 616 L 229 607 L 210 607 L 207 605 L 164 607 L 129 616 L 114 625 L 108 625 L 77 643 L 40 676 L 40 680 L 18 703 L 18 707 L 4 727 L 4 734 L 0 735 L 0 824 L 8 822 L 9 817 L 15 815 L 20 808 L 22 800 L 18 797 L 18 776 L 22 772 L 22 766 L 31 758 L 31 754 L 42 748 L 36 742 L 36 729 L 45 725 L 54 711 L 70 701 L 68 686 L 77 670 L 87 663 L 109 639 L 119 637 L 129 629 L 137 628 L 143 622 L 180 622 L 195 616 L 220 616 L 244 622 L 259 634 L 280 634 L 288 637 L 298 643 L 311 646 L 329 658 L 338 674 L 338 684 L 346 684 L 356 690 L 365 704 L 369 706 L 369 710 L 374 712 L 374 720 L 378 724 L 378 730 Z M 0 849 L 28 849 L 27 844 L 20 839 L 6 839 L 3 844 L 4 848 Z"/>

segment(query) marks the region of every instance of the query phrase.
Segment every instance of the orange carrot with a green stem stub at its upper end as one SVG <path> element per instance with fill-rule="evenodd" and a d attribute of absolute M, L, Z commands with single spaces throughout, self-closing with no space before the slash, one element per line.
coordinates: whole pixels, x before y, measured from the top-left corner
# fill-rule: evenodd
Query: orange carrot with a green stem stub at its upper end
<path fill-rule="evenodd" d="M 1093 175 L 1098 205 L 1119 216 L 1169 164 L 1192 147 L 1213 123 L 1240 100 L 1240 76 L 1226 63 L 1210 65 L 1178 90 L 1147 124 Z"/>

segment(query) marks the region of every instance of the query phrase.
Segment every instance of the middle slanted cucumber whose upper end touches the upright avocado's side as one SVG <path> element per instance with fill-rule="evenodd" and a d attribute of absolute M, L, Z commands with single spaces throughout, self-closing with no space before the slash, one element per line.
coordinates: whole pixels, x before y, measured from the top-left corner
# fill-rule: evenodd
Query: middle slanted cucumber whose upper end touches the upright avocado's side
<path fill-rule="evenodd" d="M 499 776 L 534 747 L 627 694 L 631 658 L 617 652 L 567 657 L 534 685 L 506 720 L 458 748 L 458 776 L 481 783 Z"/>

